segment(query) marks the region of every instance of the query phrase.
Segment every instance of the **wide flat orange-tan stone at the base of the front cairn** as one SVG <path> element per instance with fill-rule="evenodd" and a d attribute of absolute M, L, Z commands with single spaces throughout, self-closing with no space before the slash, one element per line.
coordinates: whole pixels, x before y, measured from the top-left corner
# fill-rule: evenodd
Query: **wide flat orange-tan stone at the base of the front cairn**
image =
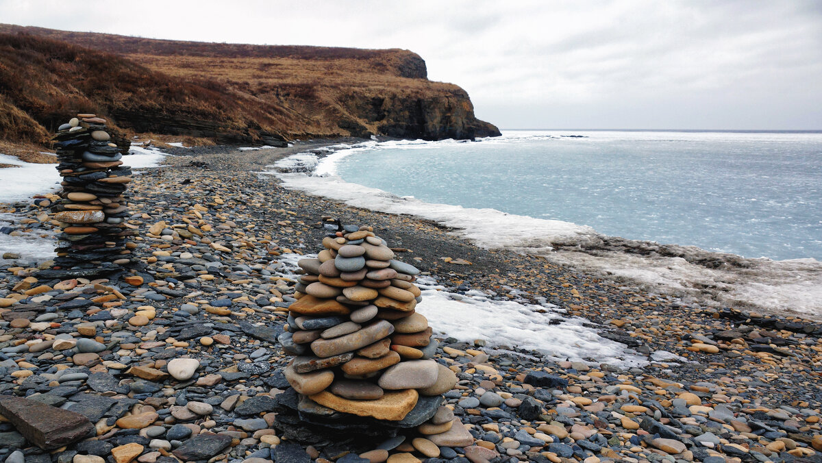
<path fill-rule="evenodd" d="M 322 391 L 310 397 L 316 403 L 342 413 L 370 416 L 375 419 L 399 421 L 417 405 L 419 394 L 413 389 L 388 391 L 376 400 L 349 400 Z M 460 425 L 461 427 L 461 425 Z M 468 431 L 466 431 L 467 433 Z M 469 434 L 470 436 L 470 434 Z"/>

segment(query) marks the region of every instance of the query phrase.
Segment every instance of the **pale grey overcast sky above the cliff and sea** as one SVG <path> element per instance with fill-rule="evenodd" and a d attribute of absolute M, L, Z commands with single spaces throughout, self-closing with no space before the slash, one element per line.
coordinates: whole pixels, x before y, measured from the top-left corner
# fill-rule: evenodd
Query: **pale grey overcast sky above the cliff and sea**
<path fill-rule="evenodd" d="M 410 49 L 501 128 L 822 129 L 819 0 L 0 0 L 0 22 Z"/>

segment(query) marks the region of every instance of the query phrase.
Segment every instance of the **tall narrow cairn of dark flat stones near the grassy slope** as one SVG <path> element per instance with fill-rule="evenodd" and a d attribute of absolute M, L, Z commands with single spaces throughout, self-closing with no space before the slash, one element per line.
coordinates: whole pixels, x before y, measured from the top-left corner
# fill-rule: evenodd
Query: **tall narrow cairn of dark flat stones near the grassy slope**
<path fill-rule="evenodd" d="M 93 269 L 112 271 L 131 260 L 126 238 L 135 232 L 125 225 L 123 194 L 132 171 L 122 165 L 105 123 L 95 114 L 77 114 L 53 137 L 62 177 L 62 201 L 53 206 L 62 229 L 54 262 L 62 271 L 92 269 L 86 272 L 92 275 Z"/>

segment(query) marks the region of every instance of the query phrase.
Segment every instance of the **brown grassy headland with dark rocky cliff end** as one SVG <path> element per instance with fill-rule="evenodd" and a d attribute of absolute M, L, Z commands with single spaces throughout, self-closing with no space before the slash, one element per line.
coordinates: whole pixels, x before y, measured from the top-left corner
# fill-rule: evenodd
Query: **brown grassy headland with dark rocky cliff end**
<path fill-rule="evenodd" d="M 499 135 L 459 86 L 400 49 L 208 44 L 0 25 L 0 138 L 42 141 L 76 110 L 132 132 L 272 144 Z"/>

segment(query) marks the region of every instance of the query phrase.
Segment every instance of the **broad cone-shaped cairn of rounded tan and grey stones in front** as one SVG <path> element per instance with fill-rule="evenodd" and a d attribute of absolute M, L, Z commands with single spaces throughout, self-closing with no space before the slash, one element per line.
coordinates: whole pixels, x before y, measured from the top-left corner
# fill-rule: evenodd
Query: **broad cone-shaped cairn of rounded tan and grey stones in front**
<path fill-rule="evenodd" d="M 344 414 L 399 421 L 420 395 L 439 396 L 457 378 L 432 359 L 437 347 L 413 281 L 419 271 L 394 260 L 371 227 L 324 225 L 316 259 L 302 259 L 288 331 L 297 355 L 285 378 L 298 394 Z"/>

